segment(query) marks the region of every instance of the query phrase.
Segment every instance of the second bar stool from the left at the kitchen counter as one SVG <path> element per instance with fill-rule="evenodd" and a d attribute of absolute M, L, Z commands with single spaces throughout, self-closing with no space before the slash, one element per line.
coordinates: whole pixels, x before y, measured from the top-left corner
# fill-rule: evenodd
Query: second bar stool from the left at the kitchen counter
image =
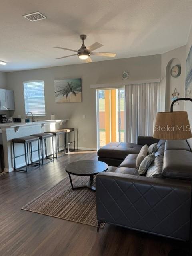
<path fill-rule="evenodd" d="M 54 141 L 53 141 L 53 134 L 48 133 L 48 132 L 41 132 L 37 134 L 32 134 L 30 136 L 35 136 L 40 139 L 40 144 L 41 144 L 41 156 L 42 156 L 42 165 L 44 165 L 44 160 L 46 161 L 46 164 L 50 162 L 54 162 Z M 49 156 L 47 155 L 47 138 L 52 138 L 52 154 Z M 44 142 L 44 145 L 43 145 Z M 44 146 L 45 146 L 45 157 L 44 157 Z M 52 155 L 52 157 L 51 157 Z"/>

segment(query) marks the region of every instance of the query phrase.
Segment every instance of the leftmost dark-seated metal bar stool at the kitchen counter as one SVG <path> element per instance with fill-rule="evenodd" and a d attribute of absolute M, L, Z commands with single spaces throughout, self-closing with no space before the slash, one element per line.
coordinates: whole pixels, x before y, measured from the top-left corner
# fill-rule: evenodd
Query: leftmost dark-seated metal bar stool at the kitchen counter
<path fill-rule="evenodd" d="M 38 150 L 34 150 L 32 151 L 32 142 L 38 142 Z M 19 143 L 19 144 L 24 144 L 24 154 L 19 155 L 19 156 L 15 156 L 15 143 Z M 40 166 L 40 152 L 39 152 L 39 138 L 35 137 L 35 136 L 26 136 L 26 137 L 21 137 L 21 138 L 15 138 L 12 139 L 12 144 L 13 144 L 13 160 L 14 160 L 14 170 L 18 170 L 18 171 L 23 171 L 23 172 L 27 172 L 28 171 L 28 166 L 35 166 L 36 168 Z M 30 153 L 28 150 L 28 146 L 30 146 Z M 33 162 L 33 156 L 32 153 L 38 151 L 38 162 Z M 31 163 L 29 164 L 29 154 L 31 154 Z M 17 169 L 16 168 L 16 164 L 15 164 L 15 159 L 21 156 L 25 156 L 25 170 Z"/>

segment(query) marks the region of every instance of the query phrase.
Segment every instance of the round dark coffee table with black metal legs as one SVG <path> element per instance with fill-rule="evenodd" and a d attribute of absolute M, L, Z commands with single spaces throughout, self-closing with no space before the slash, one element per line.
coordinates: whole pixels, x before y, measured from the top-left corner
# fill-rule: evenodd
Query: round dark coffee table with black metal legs
<path fill-rule="evenodd" d="M 98 174 L 99 172 L 105 172 L 106 170 L 108 170 L 108 165 L 101 161 L 82 160 L 67 164 L 65 166 L 65 170 L 69 175 L 72 189 L 90 188 L 92 190 L 95 190 L 95 187 L 92 186 L 94 175 Z M 86 184 L 83 184 L 81 186 L 73 186 L 71 174 L 77 176 L 90 176 L 90 178 Z"/>

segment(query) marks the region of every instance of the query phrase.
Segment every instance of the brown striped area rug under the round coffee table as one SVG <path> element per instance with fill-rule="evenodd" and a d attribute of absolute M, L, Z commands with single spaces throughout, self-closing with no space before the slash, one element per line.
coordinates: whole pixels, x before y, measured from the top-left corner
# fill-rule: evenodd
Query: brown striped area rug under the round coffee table
<path fill-rule="evenodd" d="M 72 176 L 74 186 L 82 185 L 88 179 L 89 177 Z M 95 192 L 88 188 L 72 190 L 68 177 L 34 198 L 22 210 L 97 226 Z M 104 224 L 100 227 L 103 228 Z"/>

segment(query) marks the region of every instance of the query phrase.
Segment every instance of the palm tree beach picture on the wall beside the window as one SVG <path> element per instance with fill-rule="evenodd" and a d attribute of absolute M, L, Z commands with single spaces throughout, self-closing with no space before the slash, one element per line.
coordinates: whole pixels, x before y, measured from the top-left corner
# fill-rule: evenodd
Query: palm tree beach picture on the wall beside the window
<path fill-rule="evenodd" d="M 82 102 L 81 78 L 54 80 L 55 102 Z"/>

